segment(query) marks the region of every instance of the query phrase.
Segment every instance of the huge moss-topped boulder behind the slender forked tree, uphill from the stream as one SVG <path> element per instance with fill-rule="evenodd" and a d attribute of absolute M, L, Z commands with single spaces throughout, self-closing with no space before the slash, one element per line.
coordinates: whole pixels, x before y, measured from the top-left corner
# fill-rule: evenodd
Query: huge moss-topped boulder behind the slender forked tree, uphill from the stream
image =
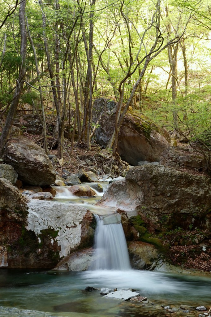
<path fill-rule="evenodd" d="M 98 122 L 95 139 L 105 148 L 114 130 L 115 103 L 113 100 L 99 98 L 93 107 L 93 121 Z M 118 133 L 117 152 L 131 165 L 138 165 L 139 161 L 144 160 L 159 162 L 169 142 L 167 131 L 138 111 L 130 109 Z"/>

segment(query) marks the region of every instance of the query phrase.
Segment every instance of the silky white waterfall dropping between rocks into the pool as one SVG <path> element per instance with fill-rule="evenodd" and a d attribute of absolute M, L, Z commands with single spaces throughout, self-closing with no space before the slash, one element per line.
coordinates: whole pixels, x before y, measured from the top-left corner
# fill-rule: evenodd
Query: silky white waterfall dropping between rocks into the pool
<path fill-rule="evenodd" d="M 90 270 L 128 270 L 131 269 L 121 216 L 94 215 L 97 221 L 95 232 L 94 260 Z"/>

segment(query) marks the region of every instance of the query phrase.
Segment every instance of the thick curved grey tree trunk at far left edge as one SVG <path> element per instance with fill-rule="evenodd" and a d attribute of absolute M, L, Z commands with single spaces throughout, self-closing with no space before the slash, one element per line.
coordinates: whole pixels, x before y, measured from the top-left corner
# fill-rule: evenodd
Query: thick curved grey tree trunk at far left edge
<path fill-rule="evenodd" d="M 15 117 L 16 109 L 18 106 L 18 102 L 21 96 L 21 92 L 23 89 L 23 79 L 25 76 L 25 60 L 26 60 L 26 46 L 27 46 L 27 33 L 25 27 L 25 9 L 26 9 L 26 0 L 23 0 L 20 3 L 19 8 L 19 25 L 20 25 L 20 35 L 21 35 L 21 48 L 20 48 L 20 56 L 22 58 L 22 64 L 19 68 L 19 76 L 16 83 L 16 90 L 13 96 L 13 100 L 10 105 L 10 110 L 7 115 L 7 119 L 0 136 L 0 157 L 2 157 L 4 152 L 4 146 L 10 134 L 10 130 L 13 124 L 13 119 Z"/>

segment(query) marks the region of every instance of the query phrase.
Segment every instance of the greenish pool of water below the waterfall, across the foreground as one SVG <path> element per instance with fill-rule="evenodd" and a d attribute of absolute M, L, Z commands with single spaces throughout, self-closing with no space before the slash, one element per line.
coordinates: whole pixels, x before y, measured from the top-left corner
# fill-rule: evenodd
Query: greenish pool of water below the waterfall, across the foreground
<path fill-rule="evenodd" d="M 100 289 L 133 288 L 149 303 L 135 304 L 107 299 Z M 2 317 L 138 317 L 164 316 L 161 305 L 211 306 L 211 277 L 170 275 L 148 271 L 26 271 L 0 270 L 0 316 Z M 11 308 L 13 307 L 13 308 Z M 15 307 L 15 308 L 14 308 Z M 187 316 L 182 311 L 176 314 Z M 189 313 L 197 316 L 199 312 Z"/>

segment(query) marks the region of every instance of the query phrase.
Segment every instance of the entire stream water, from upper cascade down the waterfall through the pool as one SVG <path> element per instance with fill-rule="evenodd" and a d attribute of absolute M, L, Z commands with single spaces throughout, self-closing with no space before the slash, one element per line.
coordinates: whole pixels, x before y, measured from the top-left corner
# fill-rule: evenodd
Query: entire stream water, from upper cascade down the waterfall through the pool
<path fill-rule="evenodd" d="M 91 185 L 91 184 L 89 184 Z M 103 184 L 104 191 L 108 184 Z M 164 317 L 161 305 L 177 307 L 177 316 L 197 317 L 180 305 L 210 307 L 211 277 L 138 271 L 130 267 L 127 245 L 118 214 L 94 204 L 102 197 L 74 197 L 68 187 L 56 188 L 55 200 L 81 204 L 92 210 L 97 230 L 96 259 L 85 272 L 0 270 L 1 317 Z M 109 216 L 105 216 L 105 211 Z M 97 288 L 86 292 L 87 286 Z M 149 303 L 122 302 L 104 298 L 100 288 L 133 288 Z"/>

